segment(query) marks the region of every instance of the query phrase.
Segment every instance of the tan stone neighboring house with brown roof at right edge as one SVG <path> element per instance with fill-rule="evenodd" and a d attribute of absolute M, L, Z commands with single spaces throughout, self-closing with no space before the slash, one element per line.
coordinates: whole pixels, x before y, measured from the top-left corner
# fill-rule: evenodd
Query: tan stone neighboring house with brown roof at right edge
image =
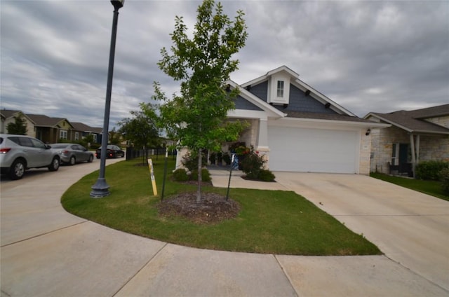
<path fill-rule="evenodd" d="M 372 172 L 413 176 L 422 160 L 449 161 L 449 104 L 392 113 L 368 113 L 364 118 L 391 127 L 372 132 Z"/>

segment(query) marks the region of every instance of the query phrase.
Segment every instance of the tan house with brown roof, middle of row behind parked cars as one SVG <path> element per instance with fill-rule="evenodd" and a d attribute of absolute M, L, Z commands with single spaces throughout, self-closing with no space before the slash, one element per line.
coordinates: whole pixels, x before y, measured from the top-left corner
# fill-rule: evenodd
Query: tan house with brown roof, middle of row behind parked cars
<path fill-rule="evenodd" d="M 35 137 L 47 144 L 58 142 L 59 139 L 72 139 L 74 127 L 67 118 L 51 118 L 41 114 L 28 114 L 33 121 Z"/>

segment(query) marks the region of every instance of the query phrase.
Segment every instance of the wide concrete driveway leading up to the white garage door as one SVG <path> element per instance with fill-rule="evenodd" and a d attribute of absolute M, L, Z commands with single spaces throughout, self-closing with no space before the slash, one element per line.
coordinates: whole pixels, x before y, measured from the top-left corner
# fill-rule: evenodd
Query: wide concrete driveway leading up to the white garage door
<path fill-rule="evenodd" d="M 449 202 L 356 174 L 275 172 L 384 254 L 449 290 Z"/>

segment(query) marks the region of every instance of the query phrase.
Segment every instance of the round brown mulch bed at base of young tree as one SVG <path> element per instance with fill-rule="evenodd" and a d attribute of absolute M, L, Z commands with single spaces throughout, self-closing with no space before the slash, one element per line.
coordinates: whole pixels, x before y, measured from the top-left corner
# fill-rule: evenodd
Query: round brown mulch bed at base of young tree
<path fill-rule="evenodd" d="M 239 214 L 238 202 L 217 193 L 201 193 L 196 202 L 196 193 L 181 193 L 163 200 L 158 205 L 162 216 L 182 216 L 194 223 L 218 223 Z"/>

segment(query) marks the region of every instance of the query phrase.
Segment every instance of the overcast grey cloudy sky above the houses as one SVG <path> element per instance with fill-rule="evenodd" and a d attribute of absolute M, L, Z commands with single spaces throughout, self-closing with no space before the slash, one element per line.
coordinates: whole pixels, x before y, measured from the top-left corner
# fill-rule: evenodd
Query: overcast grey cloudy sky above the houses
<path fill-rule="evenodd" d="M 126 0 L 120 9 L 110 126 L 149 102 L 175 15 L 194 28 L 200 1 Z M 358 116 L 449 102 L 449 1 L 222 1 L 246 13 L 231 78 L 286 65 Z M 108 0 L 0 1 L 1 109 L 102 127 L 113 6 Z"/>

